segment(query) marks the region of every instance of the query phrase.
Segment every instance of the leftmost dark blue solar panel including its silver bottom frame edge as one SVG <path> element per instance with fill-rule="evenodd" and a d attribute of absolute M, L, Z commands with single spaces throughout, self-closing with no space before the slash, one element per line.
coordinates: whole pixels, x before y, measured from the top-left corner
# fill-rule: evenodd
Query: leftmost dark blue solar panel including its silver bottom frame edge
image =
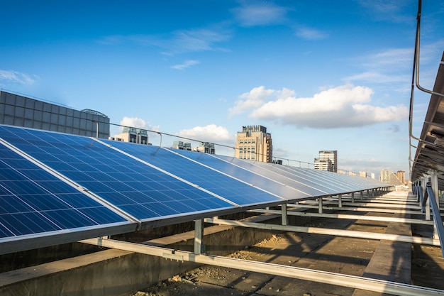
<path fill-rule="evenodd" d="M 26 160 L 3 141 L 0 155 L 0 254 L 135 231 L 136 223 Z"/>

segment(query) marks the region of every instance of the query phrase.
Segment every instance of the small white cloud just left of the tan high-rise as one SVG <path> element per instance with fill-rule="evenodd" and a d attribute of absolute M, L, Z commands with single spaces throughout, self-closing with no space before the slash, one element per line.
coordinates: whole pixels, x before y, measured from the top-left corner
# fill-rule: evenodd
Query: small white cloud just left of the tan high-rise
<path fill-rule="evenodd" d="M 223 126 L 209 124 L 208 126 L 195 126 L 191 129 L 179 131 L 178 136 L 192 138 L 197 141 L 211 143 L 231 143 L 234 142 L 234 136 Z"/>

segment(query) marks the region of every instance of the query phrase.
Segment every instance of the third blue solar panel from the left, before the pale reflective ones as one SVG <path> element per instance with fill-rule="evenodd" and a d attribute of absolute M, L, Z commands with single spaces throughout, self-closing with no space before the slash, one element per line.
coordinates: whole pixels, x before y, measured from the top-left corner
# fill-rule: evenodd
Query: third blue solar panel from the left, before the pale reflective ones
<path fill-rule="evenodd" d="M 279 193 L 287 191 L 287 189 L 282 189 L 282 187 L 279 187 L 276 184 L 270 183 L 270 187 L 274 186 L 273 188 L 262 190 L 253 186 L 252 182 L 249 182 L 250 180 L 245 182 L 245 178 L 251 178 L 251 175 L 244 175 L 243 177 L 245 178 L 240 180 L 231 175 L 227 175 L 225 172 L 203 166 L 184 158 L 166 148 L 138 145 L 134 143 L 128 145 L 128 143 L 118 141 L 100 141 L 117 150 L 123 151 L 124 153 L 129 153 L 141 161 L 155 165 L 162 170 L 166 170 L 188 182 L 192 182 L 193 184 L 198 185 L 205 190 L 209 190 L 218 196 L 224 197 L 231 202 L 240 204 L 243 207 L 269 204 L 270 202 L 279 204 L 286 200 L 284 197 L 274 194 L 274 192 L 279 190 Z"/>

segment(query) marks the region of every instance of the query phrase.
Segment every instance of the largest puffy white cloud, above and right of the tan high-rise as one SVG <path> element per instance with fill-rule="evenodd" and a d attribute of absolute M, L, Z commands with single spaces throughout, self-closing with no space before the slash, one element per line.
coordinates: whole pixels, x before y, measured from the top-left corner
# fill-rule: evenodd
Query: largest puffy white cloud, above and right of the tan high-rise
<path fill-rule="evenodd" d="M 260 95 L 250 95 L 252 93 Z M 326 89 L 306 98 L 296 98 L 289 89 L 259 87 L 241 95 L 230 111 L 231 114 L 250 111 L 253 119 L 311 128 L 366 126 L 407 119 L 406 106 L 372 106 L 372 94 L 372 89 L 353 84 Z"/>

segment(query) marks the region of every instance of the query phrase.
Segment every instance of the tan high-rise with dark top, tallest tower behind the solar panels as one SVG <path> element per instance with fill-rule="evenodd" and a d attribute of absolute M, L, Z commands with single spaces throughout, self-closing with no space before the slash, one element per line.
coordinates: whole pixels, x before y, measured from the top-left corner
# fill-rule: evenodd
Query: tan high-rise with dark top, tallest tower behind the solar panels
<path fill-rule="evenodd" d="M 236 136 L 235 157 L 271 163 L 272 134 L 265 126 L 243 126 Z"/>

